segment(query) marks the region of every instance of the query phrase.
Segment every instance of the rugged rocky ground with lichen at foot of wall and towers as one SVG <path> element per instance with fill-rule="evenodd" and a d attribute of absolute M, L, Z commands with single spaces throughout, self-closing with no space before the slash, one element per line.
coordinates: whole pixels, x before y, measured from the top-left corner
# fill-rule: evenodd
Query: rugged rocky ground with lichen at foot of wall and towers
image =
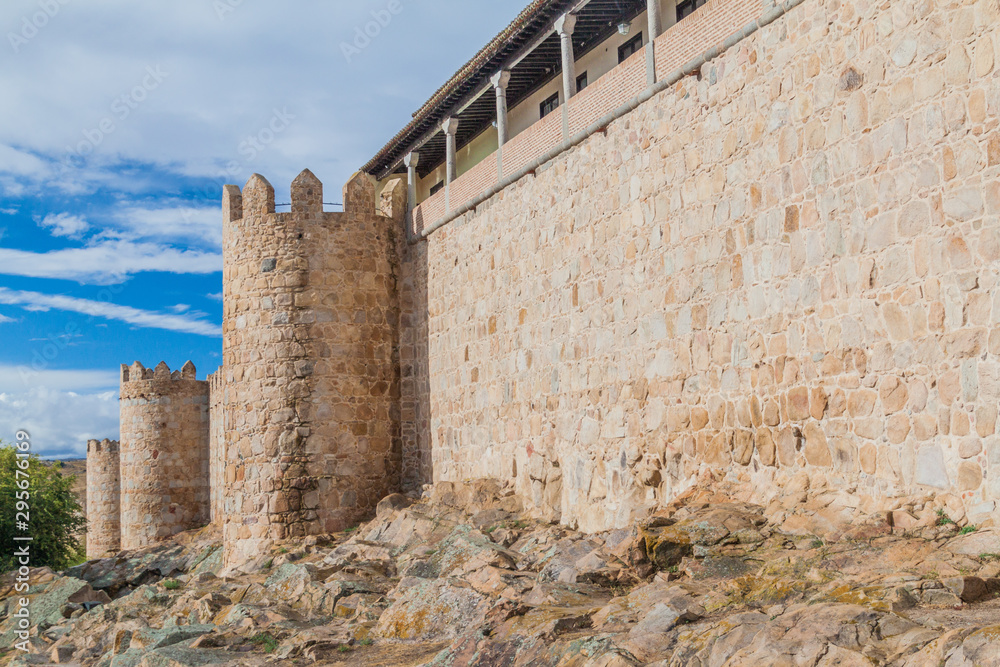
<path fill-rule="evenodd" d="M 34 571 L 35 652 L 0 662 L 1000 665 L 1000 530 L 921 498 L 866 515 L 804 474 L 766 507 L 745 495 L 706 477 L 631 529 L 584 535 L 495 483 L 441 484 L 233 571 L 207 528 Z"/>

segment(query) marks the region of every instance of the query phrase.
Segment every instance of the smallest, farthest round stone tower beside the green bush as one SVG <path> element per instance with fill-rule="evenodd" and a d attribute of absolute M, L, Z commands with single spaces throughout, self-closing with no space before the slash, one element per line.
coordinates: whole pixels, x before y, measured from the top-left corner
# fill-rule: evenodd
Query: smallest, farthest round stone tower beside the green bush
<path fill-rule="evenodd" d="M 121 550 L 121 491 L 117 440 L 87 441 L 87 558 Z"/>

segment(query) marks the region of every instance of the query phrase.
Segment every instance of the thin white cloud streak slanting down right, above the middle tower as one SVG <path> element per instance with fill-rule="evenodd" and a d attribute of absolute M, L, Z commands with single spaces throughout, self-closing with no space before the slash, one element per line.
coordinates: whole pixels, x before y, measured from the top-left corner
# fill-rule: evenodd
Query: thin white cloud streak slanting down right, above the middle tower
<path fill-rule="evenodd" d="M 139 310 L 131 306 L 79 299 L 61 294 L 23 292 L 0 287 L 0 303 L 20 306 L 29 311 L 60 310 L 101 317 L 107 320 L 125 322 L 142 329 L 164 329 L 200 336 L 220 336 L 222 334 L 217 325 L 190 316 Z"/>

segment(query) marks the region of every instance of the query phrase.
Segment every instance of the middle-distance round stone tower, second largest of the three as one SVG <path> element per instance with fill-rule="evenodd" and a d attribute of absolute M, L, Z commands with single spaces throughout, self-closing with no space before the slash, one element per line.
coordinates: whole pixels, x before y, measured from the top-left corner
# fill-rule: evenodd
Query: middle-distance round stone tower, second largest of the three
<path fill-rule="evenodd" d="M 209 522 L 208 394 L 190 361 L 173 373 L 122 365 L 123 549 Z"/>

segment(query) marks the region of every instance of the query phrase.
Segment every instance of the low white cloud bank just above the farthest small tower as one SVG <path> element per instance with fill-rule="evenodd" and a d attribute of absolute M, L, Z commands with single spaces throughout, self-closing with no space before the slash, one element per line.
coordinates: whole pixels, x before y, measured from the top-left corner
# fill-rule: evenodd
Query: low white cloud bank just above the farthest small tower
<path fill-rule="evenodd" d="M 88 439 L 118 439 L 118 391 L 0 392 L 0 437 L 9 441 L 18 430 L 31 434 L 40 456 L 85 456 Z"/>

